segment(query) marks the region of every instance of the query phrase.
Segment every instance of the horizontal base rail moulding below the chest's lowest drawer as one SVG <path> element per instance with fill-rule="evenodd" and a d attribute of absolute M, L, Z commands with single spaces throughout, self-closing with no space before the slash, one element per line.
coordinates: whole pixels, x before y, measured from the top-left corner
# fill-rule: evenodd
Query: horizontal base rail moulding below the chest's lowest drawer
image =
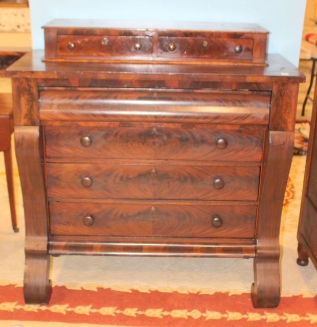
<path fill-rule="evenodd" d="M 52 255 L 180 256 L 200 258 L 254 258 L 254 241 L 238 238 L 148 238 L 51 236 Z"/>

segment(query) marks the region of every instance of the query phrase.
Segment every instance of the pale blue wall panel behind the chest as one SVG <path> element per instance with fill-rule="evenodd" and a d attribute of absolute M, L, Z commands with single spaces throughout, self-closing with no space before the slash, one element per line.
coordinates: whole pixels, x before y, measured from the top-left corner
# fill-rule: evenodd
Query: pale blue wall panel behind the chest
<path fill-rule="evenodd" d="M 269 30 L 269 53 L 299 61 L 306 0 L 29 0 L 34 49 L 54 18 L 223 21 Z"/>

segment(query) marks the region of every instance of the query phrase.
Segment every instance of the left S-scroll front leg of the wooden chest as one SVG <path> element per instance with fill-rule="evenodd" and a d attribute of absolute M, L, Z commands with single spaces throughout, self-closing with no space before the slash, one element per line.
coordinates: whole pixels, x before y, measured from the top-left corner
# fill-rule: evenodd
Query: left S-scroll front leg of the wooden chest
<path fill-rule="evenodd" d="M 15 144 L 26 221 L 24 297 L 27 303 L 48 303 L 47 208 L 39 150 L 39 126 L 17 126 Z"/>

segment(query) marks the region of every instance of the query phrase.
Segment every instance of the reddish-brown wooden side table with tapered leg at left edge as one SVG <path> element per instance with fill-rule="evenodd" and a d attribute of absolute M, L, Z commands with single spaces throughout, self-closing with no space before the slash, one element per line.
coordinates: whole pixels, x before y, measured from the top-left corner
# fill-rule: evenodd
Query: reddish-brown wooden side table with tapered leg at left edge
<path fill-rule="evenodd" d="M 12 227 L 15 232 L 19 229 L 16 223 L 14 205 L 13 169 L 11 155 L 11 134 L 13 132 L 12 96 L 11 94 L 0 94 L 0 151 L 5 154 L 5 166 L 10 202 Z"/>

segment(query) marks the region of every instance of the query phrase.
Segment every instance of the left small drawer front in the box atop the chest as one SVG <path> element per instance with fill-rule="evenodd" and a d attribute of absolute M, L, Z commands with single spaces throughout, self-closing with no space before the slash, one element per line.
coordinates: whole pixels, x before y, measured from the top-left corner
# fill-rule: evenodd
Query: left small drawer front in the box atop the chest
<path fill-rule="evenodd" d="M 57 36 L 57 54 L 63 57 L 142 56 L 152 51 L 152 37 L 149 36 Z"/>

